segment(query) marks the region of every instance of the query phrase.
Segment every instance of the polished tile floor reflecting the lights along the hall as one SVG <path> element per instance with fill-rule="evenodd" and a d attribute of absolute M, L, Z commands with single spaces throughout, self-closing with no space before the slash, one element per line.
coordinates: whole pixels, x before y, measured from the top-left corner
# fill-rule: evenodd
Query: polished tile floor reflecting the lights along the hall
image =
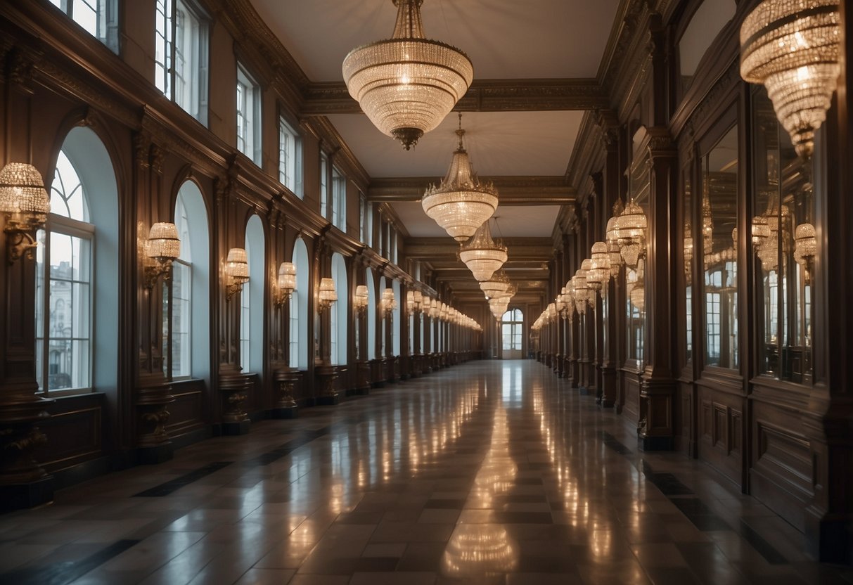
<path fill-rule="evenodd" d="M 472 362 L 0 517 L 0 583 L 853 583 L 537 362 Z"/>

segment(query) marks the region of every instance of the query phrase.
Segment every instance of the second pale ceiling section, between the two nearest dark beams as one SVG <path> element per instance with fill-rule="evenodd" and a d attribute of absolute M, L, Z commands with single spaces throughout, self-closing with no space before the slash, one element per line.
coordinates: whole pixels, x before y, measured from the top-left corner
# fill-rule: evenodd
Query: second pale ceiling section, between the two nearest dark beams
<path fill-rule="evenodd" d="M 371 177 L 444 177 L 456 150 L 451 113 L 409 151 L 363 114 L 328 116 Z M 472 112 L 462 115 L 465 148 L 480 176 L 566 173 L 583 112 Z"/>

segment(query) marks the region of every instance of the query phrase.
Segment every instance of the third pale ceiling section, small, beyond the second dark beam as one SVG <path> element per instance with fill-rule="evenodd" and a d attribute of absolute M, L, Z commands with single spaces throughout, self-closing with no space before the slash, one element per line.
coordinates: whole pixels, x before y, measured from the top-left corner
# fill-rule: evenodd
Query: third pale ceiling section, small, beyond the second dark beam
<path fill-rule="evenodd" d="M 415 238 L 449 237 L 424 213 L 420 201 L 392 203 L 397 217 Z M 560 206 L 497 206 L 495 222 L 490 223 L 493 238 L 548 238 Z"/>

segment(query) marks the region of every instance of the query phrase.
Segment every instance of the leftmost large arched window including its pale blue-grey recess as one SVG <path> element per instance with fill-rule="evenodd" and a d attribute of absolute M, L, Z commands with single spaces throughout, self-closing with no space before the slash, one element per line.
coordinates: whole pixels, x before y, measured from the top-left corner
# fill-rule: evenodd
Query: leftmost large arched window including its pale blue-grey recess
<path fill-rule="evenodd" d="M 68 133 L 49 191 L 50 213 L 38 230 L 36 252 L 38 387 L 44 392 L 113 389 L 119 200 L 112 161 L 92 130 Z"/>

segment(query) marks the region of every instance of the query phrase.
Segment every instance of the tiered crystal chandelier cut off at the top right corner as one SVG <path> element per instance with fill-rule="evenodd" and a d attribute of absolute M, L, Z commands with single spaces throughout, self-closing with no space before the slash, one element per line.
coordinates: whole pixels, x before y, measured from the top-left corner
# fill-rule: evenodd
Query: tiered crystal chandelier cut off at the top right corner
<path fill-rule="evenodd" d="M 764 0 L 740 27 L 740 76 L 767 87 L 804 159 L 838 84 L 840 40 L 838 0 Z"/>

